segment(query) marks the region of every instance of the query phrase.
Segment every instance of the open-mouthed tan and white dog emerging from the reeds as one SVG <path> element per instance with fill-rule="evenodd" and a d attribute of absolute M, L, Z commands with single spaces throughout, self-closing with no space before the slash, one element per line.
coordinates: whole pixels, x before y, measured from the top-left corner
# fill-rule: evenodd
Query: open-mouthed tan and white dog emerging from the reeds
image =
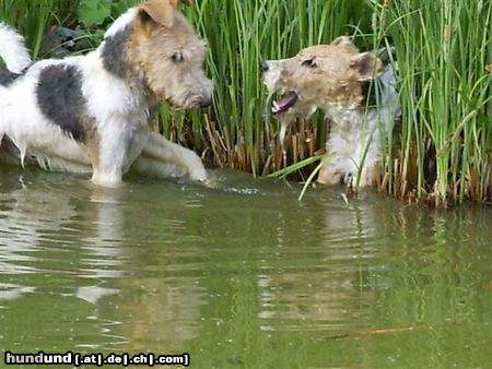
<path fill-rule="evenodd" d="M 263 61 L 261 69 L 270 94 L 285 94 L 272 107 L 281 122 L 281 141 L 292 121 L 318 108 L 331 122 L 328 156 L 318 181 L 374 183 L 384 139 L 399 114 L 391 64 L 385 66 L 373 52 L 359 52 L 349 38 L 339 37 L 291 59 Z M 376 97 L 374 104 L 367 104 L 367 90 Z"/>

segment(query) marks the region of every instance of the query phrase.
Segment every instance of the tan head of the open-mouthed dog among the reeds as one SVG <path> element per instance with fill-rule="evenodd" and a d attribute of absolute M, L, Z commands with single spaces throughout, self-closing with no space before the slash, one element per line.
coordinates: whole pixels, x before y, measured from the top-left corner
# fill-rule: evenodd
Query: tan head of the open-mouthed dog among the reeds
<path fill-rule="evenodd" d="M 272 112 L 286 127 L 296 118 L 311 116 L 317 108 L 356 108 L 363 100 L 363 85 L 384 72 L 383 62 L 372 52 L 359 52 L 347 37 L 329 45 L 303 49 L 297 56 L 261 63 L 263 83 L 273 100 Z"/>

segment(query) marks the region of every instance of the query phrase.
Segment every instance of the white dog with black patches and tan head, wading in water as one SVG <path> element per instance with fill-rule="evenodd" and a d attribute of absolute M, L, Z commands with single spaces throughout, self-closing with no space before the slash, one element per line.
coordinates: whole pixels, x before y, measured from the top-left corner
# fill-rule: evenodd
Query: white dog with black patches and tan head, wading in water
<path fill-rule="evenodd" d="M 130 167 L 206 180 L 197 154 L 150 126 L 162 102 L 184 109 L 211 103 L 207 46 L 178 2 L 149 0 L 118 17 L 96 50 L 35 63 L 23 38 L 0 23 L 0 144 L 13 143 L 22 163 L 28 155 L 50 170 L 92 170 L 107 186 Z"/>

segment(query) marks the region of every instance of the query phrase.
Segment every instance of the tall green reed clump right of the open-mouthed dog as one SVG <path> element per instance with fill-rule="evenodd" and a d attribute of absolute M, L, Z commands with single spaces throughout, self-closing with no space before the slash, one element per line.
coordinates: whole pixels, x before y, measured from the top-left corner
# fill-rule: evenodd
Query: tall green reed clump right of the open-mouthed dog
<path fill-rule="evenodd" d="M 403 107 L 397 178 L 387 189 L 414 190 L 436 205 L 490 200 L 491 1 L 372 4 L 396 48 Z"/>

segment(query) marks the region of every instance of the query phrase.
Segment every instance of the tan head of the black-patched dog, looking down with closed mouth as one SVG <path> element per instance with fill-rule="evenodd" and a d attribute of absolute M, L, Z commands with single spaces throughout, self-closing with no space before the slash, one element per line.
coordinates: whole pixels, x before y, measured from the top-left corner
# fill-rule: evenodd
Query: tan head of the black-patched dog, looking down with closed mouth
<path fill-rule="evenodd" d="M 185 109 L 206 107 L 213 91 L 203 71 L 207 44 L 178 7 L 179 0 L 149 0 L 140 5 L 128 51 L 159 99 Z"/>

